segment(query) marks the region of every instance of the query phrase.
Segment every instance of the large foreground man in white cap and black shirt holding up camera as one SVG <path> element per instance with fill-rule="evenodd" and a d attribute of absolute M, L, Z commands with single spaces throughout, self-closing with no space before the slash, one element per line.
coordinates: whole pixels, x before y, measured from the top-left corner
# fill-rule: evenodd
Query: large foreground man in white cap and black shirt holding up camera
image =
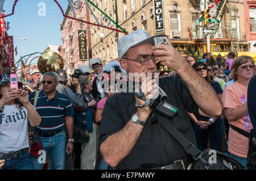
<path fill-rule="evenodd" d="M 221 102 L 212 87 L 191 68 L 170 41 L 169 45 L 154 45 L 155 37 L 167 36 L 150 37 L 144 30 L 123 36 L 118 42 L 120 65 L 127 74 L 155 73 L 158 56 L 162 65 L 177 71 L 183 81 L 174 77 L 159 79 L 159 87 L 168 96 L 166 102 L 178 109 L 174 116 L 164 117 L 195 145 L 187 111 L 214 117 L 221 114 Z M 142 82 L 141 87 L 151 86 L 154 82 L 155 79 L 149 79 Z M 156 90 L 151 88 L 143 93 L 146 100 L 150 100 Z M 187 155 L 159 123 L 159 115 L 163 116 L 163 113 L 152 110 L 144 104 L 146 102 L 130 92 L 114 94 L 106 101 L 99 138 L 105 162 L 116 169 L 183 169 L 183 162 L 174 162 L 187 160 Z M 151 117 L 152 113 L 157 113 L 156 120 Z"/>

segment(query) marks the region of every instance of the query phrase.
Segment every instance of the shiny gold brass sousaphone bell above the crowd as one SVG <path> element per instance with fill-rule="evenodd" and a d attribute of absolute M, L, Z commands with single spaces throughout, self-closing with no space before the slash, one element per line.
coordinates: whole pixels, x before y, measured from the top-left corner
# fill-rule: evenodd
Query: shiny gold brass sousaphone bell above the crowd
<path fill-rule="evenodd" d="M 46 52 L 38 60 L 38 70 L 41 74 L 64 68 L 63 58 L 55 52 Z"/>

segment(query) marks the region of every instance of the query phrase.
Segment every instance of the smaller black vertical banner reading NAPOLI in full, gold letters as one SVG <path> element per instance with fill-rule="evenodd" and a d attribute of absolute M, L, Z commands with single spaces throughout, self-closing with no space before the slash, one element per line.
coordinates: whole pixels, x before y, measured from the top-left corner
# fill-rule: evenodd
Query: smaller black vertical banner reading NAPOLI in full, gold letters
<path fill-rule="evenodd" d="M 79 30 L 78 36 L 79 36 L 79 59 L 80 61 L 86 61 L 88 60 L 87 47 L 86 47 L 86 31 Z"/>

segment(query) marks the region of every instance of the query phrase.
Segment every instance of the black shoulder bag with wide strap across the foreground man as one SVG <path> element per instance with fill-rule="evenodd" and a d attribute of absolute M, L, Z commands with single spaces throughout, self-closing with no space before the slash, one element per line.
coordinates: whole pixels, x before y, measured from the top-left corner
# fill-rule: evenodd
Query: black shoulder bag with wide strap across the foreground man
<path fill-rule="evenodd" d="M 159 123 L 175 138 L 182 146 L 185 154 L 192 160 L 192 166 L 189 165 L 186 170 L 243 170 L 245 167 L 228 155 L 217 150 L 206 149 L 203 153 L 187 140 L 165 117 L 158 115 Z M 210 157 L 216 153 L 216 160 L 212 161 Z"/>

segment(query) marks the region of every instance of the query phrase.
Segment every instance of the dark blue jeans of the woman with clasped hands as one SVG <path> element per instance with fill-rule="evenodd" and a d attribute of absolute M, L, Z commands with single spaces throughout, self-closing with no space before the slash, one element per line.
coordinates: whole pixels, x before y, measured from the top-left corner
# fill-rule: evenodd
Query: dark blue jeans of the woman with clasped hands
<path fill-rule="evenodd" d="M 221 123 L 221 119 L 218 118 L 215 123 L 208 127 L 207 130 L 201 129 L 193 123 L 193 130 L 196 137 L 196 145 L 200 151 L 207 149 L 209 137 L 210 148 L 222 152 L 223 125 Z"/>

